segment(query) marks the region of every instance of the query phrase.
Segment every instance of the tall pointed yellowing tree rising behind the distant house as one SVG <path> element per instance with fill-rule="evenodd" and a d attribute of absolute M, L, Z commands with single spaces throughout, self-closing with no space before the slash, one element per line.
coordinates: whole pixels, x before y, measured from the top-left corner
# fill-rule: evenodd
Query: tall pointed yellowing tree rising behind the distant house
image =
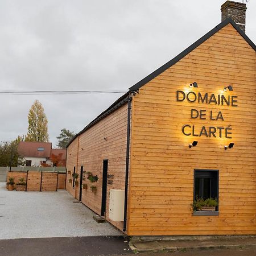
<path fill-rule="evenodd" d="M 28 129 L 26 141 L 48 142 L 48 120 L 43 105 L 35 100 L 28 112 Z"/>

